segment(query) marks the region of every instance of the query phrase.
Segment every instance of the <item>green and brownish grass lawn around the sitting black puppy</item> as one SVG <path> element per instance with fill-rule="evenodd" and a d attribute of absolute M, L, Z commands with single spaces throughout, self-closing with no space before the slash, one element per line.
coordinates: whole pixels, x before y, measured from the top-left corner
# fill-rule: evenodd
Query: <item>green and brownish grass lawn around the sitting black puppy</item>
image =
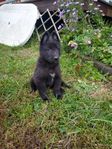
<path fill-rule="evenodd" d="M 44 103 L 38 92 L 30 94 L 37 58 L 34 38 L 24 47 L 0 45 L 0 148 L 112 148 L 111 80 L 62 51 L 62 76 L 72 87 L 62 100 L 49 92 Z"/>

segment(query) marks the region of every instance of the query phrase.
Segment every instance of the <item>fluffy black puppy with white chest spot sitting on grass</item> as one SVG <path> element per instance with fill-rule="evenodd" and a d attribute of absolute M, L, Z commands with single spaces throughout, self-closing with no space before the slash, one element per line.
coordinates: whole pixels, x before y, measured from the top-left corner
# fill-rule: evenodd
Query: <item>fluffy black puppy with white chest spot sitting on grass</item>
<path fill-rule="evenodd" d="M 68 87 L 61 79 L 60 65 L 60 41 L 56 32 L 46 32 L 40 42 L 40 57 L 31 79 L 32 91 L 39 91 L 43 100 L 49 100 L 47 88 L 52 88 L 57 99 L 62 98 L 63 88 Z"/>

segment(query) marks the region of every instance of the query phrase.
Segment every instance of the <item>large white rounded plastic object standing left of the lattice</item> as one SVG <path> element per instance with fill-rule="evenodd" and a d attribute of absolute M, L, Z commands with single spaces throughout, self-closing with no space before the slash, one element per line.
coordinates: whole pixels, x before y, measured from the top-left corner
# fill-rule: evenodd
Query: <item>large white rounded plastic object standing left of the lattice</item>
<path fill-rule="evenodd" d="M 31 37 L 40 13 L 34 4 L 4 4 L 0 6 L 0 43 L 24 45 Z"/>

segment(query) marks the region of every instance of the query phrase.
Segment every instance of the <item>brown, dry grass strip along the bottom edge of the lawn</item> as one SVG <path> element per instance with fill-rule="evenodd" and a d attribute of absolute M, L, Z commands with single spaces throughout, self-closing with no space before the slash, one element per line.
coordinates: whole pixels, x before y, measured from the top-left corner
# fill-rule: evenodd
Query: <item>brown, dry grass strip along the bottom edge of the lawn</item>
<path fill-rule="evenodd" d="M 41 128 L 27 127 L 16 125 L 8 130 L 5 134 L 5 147 L 1 149 L 110 149 L 88 134 L 65 137 L 59 134 L 58 140 L 53 143 L 49 142 L 49 136 L 45 137 Z"/>

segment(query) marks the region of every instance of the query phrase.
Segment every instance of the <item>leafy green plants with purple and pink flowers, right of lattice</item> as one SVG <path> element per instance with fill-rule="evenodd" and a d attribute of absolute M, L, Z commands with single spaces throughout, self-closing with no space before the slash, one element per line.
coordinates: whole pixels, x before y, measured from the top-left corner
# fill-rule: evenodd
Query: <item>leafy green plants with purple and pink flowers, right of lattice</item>
<path fill-rule="evenodd" d="M 79 53 L 112 66 L 112 26 L 106 24 L 100 6 L 89 0 L 88 11 L 83 12 L 83 1 L 63 0 L 60 7 L 68 28 L 62 31 L 63 49 Z M 69 19 L 68 19 L 69 18 Z M 71 43 L 71 44 L 70 44 Z M 77 45 L 73 48 L 74 45 Z"/>

